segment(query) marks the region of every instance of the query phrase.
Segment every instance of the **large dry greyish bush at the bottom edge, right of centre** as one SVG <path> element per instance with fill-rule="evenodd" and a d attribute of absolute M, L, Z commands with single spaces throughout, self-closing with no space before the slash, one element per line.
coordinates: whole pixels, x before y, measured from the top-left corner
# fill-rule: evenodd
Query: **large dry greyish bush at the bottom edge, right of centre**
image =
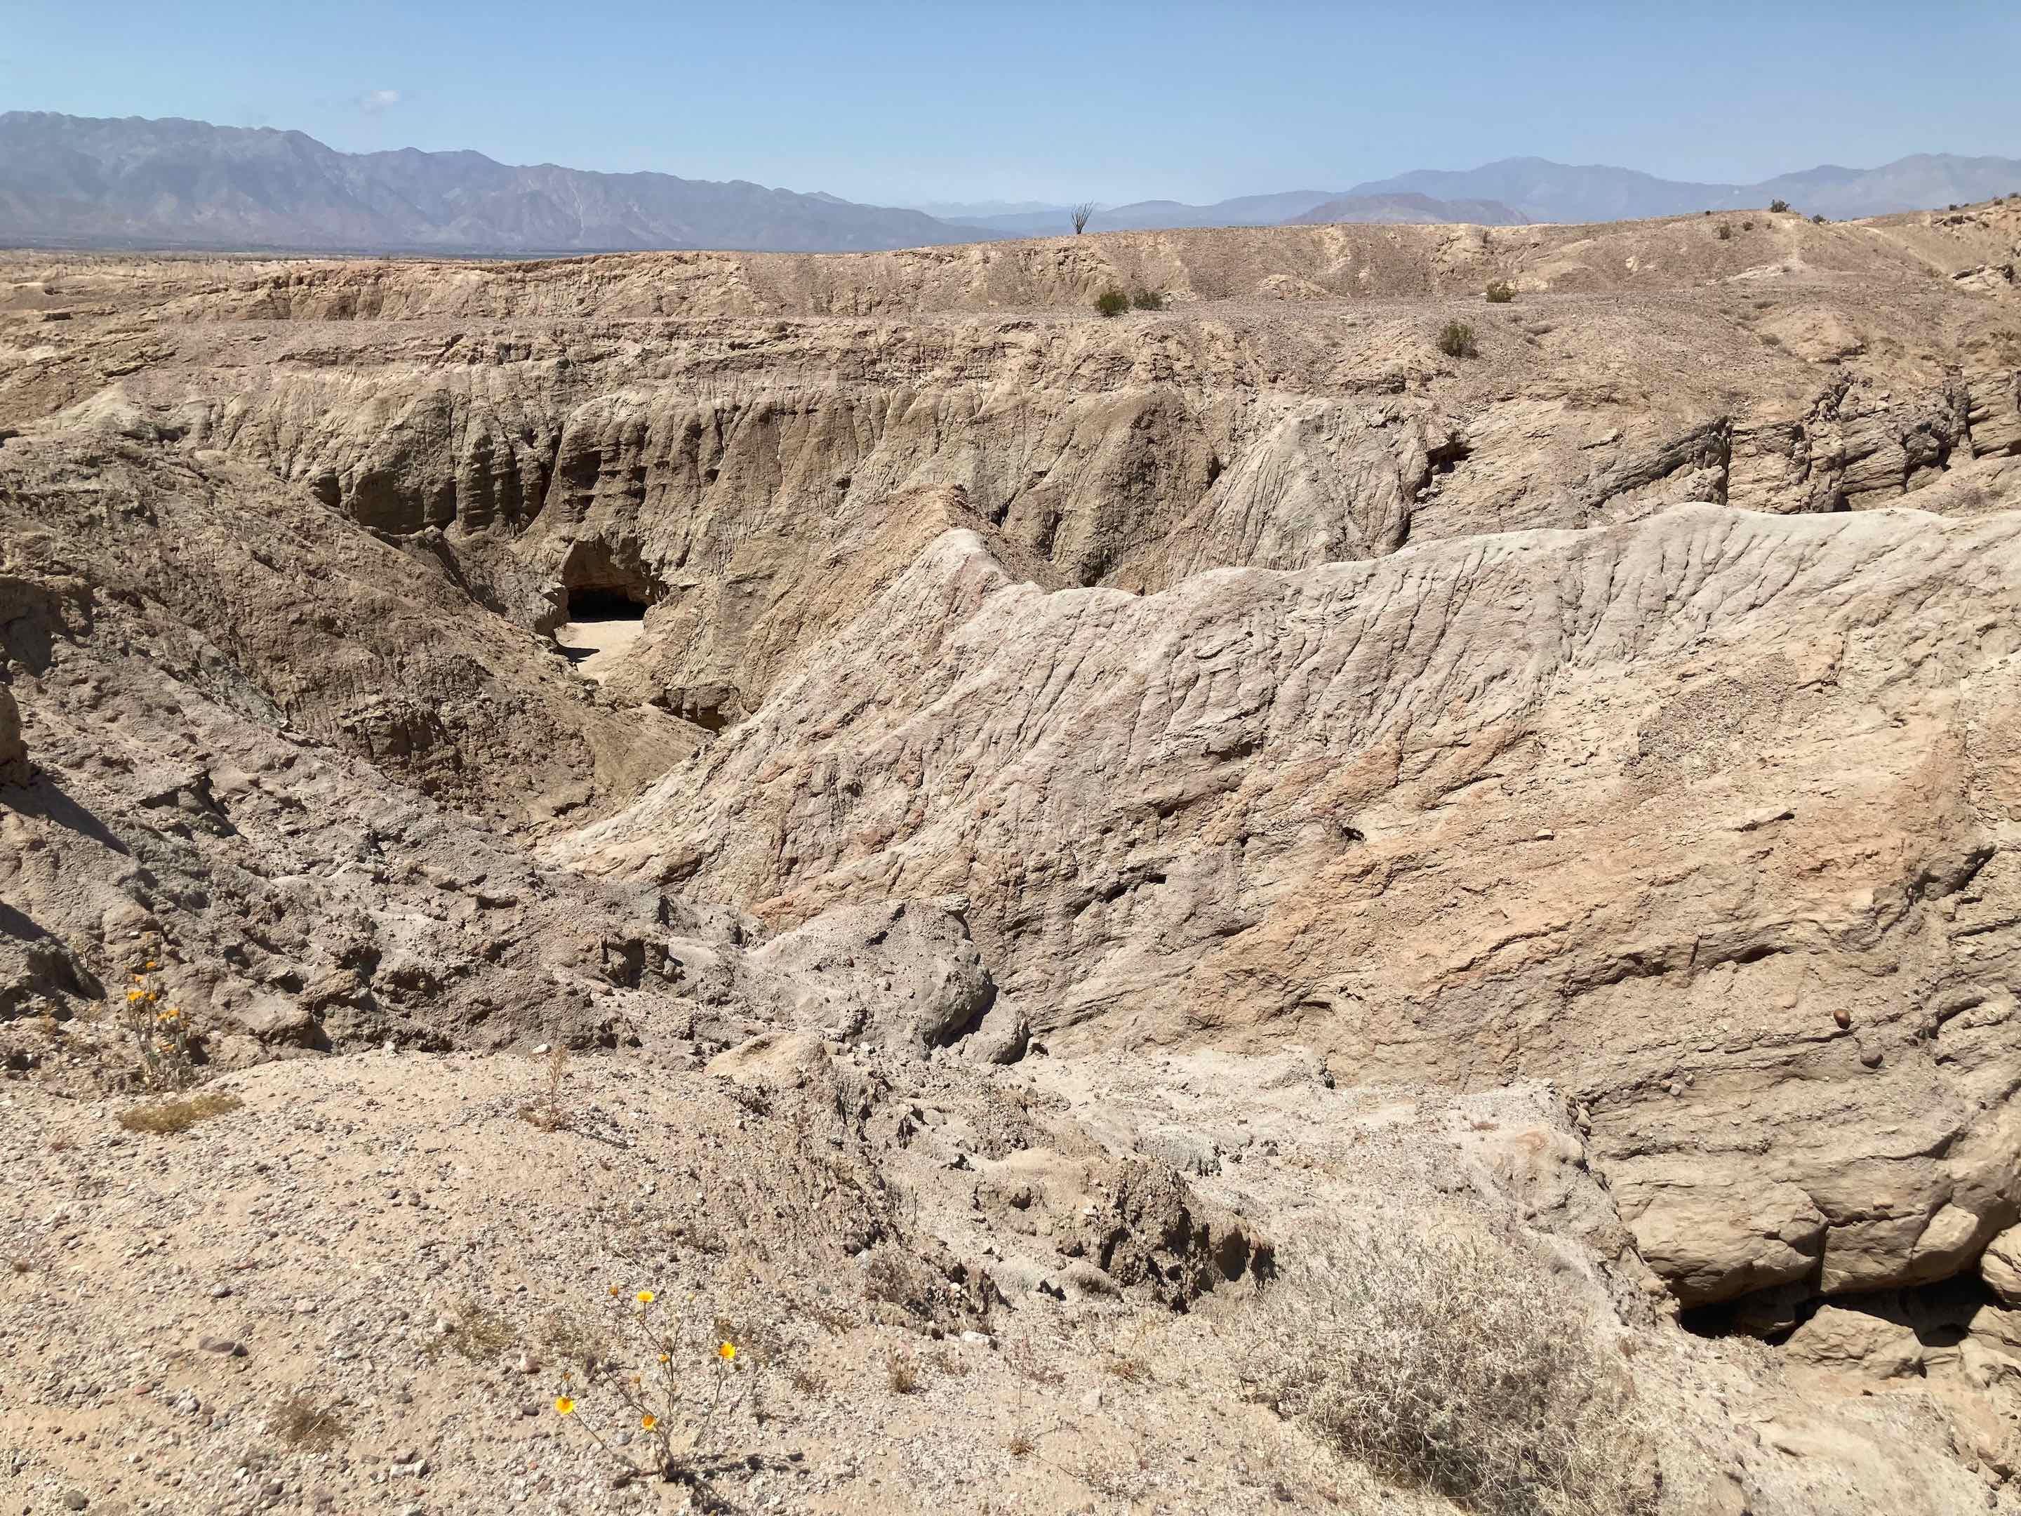
<path fill-rule="evenodd" d="M 1253 1322 L 1265 1399 L 1392 1482 L 1489 1516 L 1653 1510 L 1625 1362 L 1528 1247 L 1364 1221 Z"/>

